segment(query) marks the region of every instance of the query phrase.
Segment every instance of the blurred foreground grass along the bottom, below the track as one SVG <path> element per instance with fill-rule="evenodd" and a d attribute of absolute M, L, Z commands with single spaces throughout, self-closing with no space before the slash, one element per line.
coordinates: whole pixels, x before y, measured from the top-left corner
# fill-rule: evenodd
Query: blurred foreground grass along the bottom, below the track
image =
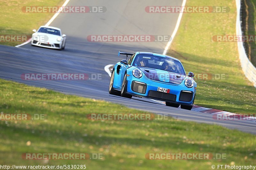
<path fill-rule="evenodd" d="M 88 169 L 211 169 L 255 162 L 252 134 L 168 118 L 92 121 L 90 113 L 146 113 L 0 79 L 2 113 L 45 114 L 45 120 L 0 121 L 0 165 L 86 165 Z M 29 142 L 30 141 L 30 145 Z M 28 145 L 27 145 L 28 144 Z M 103 160 L 24 160 L 22 153 L 103 153 Z M 226 153 L 222 160 L 148 160 L 146 153 Z"/>

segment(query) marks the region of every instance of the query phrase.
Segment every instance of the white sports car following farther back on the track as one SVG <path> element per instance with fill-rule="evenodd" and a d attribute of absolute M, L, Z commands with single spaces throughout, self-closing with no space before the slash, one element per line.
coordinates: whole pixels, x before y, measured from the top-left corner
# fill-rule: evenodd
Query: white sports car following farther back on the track
<path fill-rule="evenodd" d="M 61 35 L 60 28 L 41 26 L 37 31 L 33 30 L 31 45 L 53 49 L 65 49 L 66 35 Z"/>

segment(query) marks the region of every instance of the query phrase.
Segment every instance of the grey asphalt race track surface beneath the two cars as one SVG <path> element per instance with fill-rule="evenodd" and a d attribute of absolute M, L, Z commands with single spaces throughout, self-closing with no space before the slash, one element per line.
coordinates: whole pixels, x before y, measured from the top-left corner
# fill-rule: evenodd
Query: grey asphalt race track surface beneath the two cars
<path fill-rule="evenodd" d="M 181 6 L 182 0 L 103 1 L 71 0 L 68 6 L 104 6 L 105 13 L 60 13 L 50 26 L 59 27 L 67 35 L 63 51 L 31 46 L 0 46 L 0 78 L 37 87 L 45 87 L 94 99 L 147 110 L 186 121 L 219 124 L 231 129 L 256 134 L 256 123 L 250 121 L 217 121 L 211 114 L 172 108 L 150 99 L 126 99 L 108 94 L 110 77 L 104 67 L 125 59 L 118 51 L 163 53 L 167 42 L 89 42 L 88 35 L 171 35 L 178 13 L 146 13 L 146 6 Z M 37 29 L 37 28 L 35 28 Z M 31 32 L 32 34 L 32 32 Z M 173 56 L 175 57 L 175 56 Z M 186 68 L 185 68 L 186 69 Z M 190 71 L 190 70 L 187 70 Z M 193 71 L 193 70 L 191 70 Z M 91 80 L 22 80 L 24 73 L 85 73 Z M 94 75 L 100 79 L 94 80 Z M 93 77 L 92 77 L 93 76 Z M 198 84 L 200 86 L 200 84 Z"/>

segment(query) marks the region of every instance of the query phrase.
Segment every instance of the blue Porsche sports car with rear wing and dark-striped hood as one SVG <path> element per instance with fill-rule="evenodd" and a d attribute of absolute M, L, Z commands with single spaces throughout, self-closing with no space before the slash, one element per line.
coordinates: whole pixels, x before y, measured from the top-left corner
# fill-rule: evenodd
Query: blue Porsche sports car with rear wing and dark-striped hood
<path fill-rule="evenodd" d="M 192 72 L 186 76 L 180 60 L 173 57 L 136 52 L 126 55 L 113 68 L 109 94 L 146 97 L 165 101 L 166 106 L 191 110 L 196 96 L 196 82 Z M 127 57 L 131 56 L 127 61 Z"/>

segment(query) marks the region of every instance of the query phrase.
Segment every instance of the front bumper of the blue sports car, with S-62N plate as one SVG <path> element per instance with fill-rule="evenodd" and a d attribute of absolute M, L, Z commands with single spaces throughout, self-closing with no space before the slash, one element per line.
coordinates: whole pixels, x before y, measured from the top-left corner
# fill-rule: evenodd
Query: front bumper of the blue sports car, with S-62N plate
<path fill-rule="evenodd" d="M 134 84 L 136 86 L 134 86 Z M 139 86 L 139 88 L 137 86 Z M 157 91 L 158 87 L 170 89 L 170 93 L 159 92 Z M 185 86 L 183 81 L 179 85 L 172 85 L 164 82 L 152 81 L 145 78 L 145 76 L 137 79 L 130 75 L 127 77 L 126 93 L 132 96 L 146 97 L 170 103 L 192 106 L 196 89 L 194 87 L 188 88 Z"/>

